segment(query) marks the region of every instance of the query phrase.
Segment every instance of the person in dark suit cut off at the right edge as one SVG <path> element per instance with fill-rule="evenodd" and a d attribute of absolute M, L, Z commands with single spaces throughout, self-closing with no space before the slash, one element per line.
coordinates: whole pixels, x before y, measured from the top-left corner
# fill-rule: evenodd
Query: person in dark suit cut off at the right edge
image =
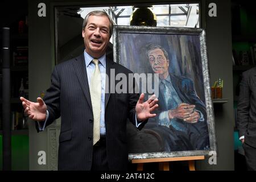
<path fill-rule="evenodd" d="M 256 170 L 256 67 L 242 74 L 237 104 L 237 128 L 248 170 Z"/>

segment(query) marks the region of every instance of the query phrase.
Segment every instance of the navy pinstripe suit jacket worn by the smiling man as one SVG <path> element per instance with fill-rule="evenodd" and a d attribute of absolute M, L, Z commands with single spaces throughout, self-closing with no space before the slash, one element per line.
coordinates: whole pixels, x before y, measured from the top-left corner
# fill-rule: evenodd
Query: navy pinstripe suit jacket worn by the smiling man
<path fill-rule="evenodd" d="M 106 75 L 109 78 L 110 69 L 114 69 L 115 75 L 124 73 L 128 77 L 132 73 L 107 59 Z M 106 85 L 113 89 L 116 83 L 109 81 Z M 126 122 L 129 118 L 135 124 L 138 98 L 139 94 L 105 95 L 106 151 L 110 170 L 127 169 Z M 46 126 L 61 117 L 59 170 L 90 170 L 93 158 L 93 111 L 84 54 L 56 65 L 44 102 L 49 111 Z"/>

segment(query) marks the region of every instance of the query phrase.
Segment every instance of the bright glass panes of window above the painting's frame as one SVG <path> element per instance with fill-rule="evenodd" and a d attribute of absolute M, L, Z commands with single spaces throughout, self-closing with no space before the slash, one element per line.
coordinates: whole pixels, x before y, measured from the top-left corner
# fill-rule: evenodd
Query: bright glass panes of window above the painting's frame
<path fill-rule="evenodd" d="M 144 6 L 145 7 L 145 6 Z M 148 6 L 156 15 L 156 26 L 174 27 L 198 27 L 199 28 L 199 4 L 174 4 L 174 5 L 150 5 Z M 92 10 L 102 9 L 109 13 L 115 24 L 130 25 L 130 16 L 138 6 L 112 6 L 112 7 L 81 7 L 79 14 L 84 16 Z"/>

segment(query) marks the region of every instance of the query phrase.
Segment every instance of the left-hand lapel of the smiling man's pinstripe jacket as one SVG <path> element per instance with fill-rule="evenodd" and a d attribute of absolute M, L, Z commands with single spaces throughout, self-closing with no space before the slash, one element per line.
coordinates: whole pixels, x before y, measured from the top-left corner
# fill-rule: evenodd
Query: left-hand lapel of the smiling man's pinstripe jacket
<path fill-rule="evenodd" d="M 73 61 L 73 66 L 76 70 L 76 75 L 77 75 L 77 78 L 79 79 L 80 85 L 82 87 L 82 91 L 84 92 L 86 100 L 88 101 L 90 109 L 92 110 L 92 102 L 90 100 L 90 90 L 89 90 L 88 77 L 87 77 L 87 72 L 85 68 L 85 60 L 84 60 L 83 53 L 79 57 L 76 57 L 76 61 Z"/>

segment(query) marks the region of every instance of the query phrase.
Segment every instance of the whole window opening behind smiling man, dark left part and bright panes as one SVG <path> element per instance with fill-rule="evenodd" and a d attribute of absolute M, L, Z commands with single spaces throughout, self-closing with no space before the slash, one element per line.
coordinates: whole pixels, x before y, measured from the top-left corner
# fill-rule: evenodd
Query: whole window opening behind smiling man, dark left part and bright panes
<path fill-rule="evenodd" d="M 84 51 L 84 43 L 81 39 L 81 27 L 85 16 L 90 11 L 103 10 L 110 15 L 114 24 L 130 26 L 131 15 L 139 7 L 141 6 L 56 7 L 56 63 L 71 59 Z M 143 5 L 143 7 L 150 8 L 152 14 L 154 14 L 154 20 L 156 20 L 156 26 L 158 27 L 200 28 L 199 3 Z M 65 28 L 67 26 L 73 28 L 67 29 Z M 112 38 L 110 42 L 113 42 Z M 111 46 L 108 48 L 112 49 Z"/>

